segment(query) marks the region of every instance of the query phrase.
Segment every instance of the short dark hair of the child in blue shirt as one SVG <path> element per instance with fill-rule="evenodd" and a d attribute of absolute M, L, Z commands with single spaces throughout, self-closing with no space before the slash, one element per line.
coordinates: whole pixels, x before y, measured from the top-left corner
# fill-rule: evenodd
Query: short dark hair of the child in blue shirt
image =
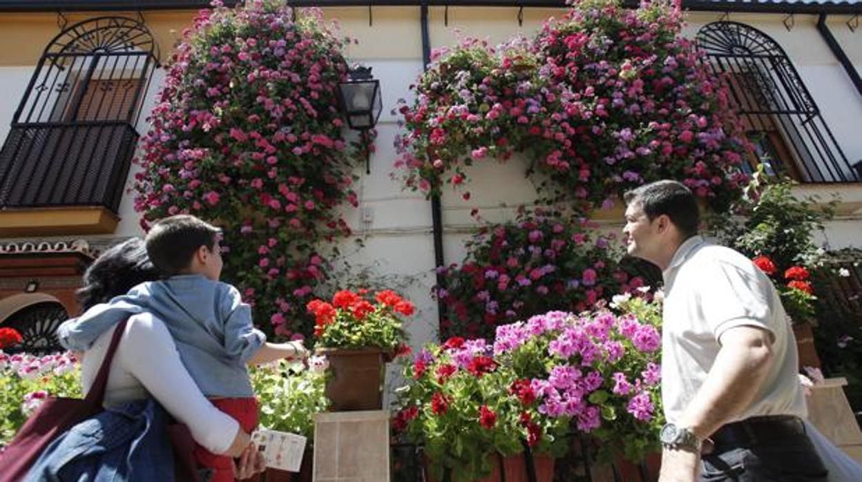
<path fill-rule="evenodd" d="M 200 247 L 214 249 L 221 232 L 209 222 L 180 214 L 159 219 L 144 241 L 153 265 L 172 276 L 191 266 L 192 257 Z"/>

